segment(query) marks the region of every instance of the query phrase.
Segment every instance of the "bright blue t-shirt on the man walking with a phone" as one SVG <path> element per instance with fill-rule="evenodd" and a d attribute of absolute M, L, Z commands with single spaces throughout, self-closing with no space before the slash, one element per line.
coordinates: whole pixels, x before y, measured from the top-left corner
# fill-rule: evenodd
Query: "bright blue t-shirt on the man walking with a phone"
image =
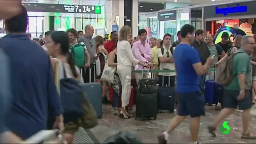
<path fill-rule="evenodd" d="M 176 67 L 176 92 L 189 93 L 200 90 L 201 77 L 196 74 L 195 63 L 201 62 L 198 52 L 190 45 L 180 43 L 173 52 Z"/>

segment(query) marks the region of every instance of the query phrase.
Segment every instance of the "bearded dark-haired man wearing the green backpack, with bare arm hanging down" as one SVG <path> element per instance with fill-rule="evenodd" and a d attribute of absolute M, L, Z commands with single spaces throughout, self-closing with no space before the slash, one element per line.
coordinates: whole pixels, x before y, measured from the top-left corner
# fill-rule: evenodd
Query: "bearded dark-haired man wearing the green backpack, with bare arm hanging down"
<path fill-rule="evenodd" d="M 85 50 L 84 50 L 84 53 L 85 53 L 85 57 L 86 57 L 86 64 L 85 64 L 85 67 L 90 67 L 90 60 L 91 60 L 91 57 L 89 55 L 89 52 L 85 46 L 85 44 L 83 42 L 80 42 L 78 43 L 77 40 L 76 40 L 76 37 L 77 37 L 77 31 L 75 29 L 69 29 L 67 30 L 67 34 L 68 34 L 68 38 L 69 38 L 69 44 L 70 44 L 70 47 L 71 48 L 74 48 L 74 47 L 83 47 Z"/>

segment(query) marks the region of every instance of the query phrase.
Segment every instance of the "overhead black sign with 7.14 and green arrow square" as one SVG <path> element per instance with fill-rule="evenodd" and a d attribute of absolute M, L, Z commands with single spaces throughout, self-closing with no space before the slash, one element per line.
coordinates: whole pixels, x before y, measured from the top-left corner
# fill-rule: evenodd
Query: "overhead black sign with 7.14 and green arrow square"
<path fill-rule="evenodd" d="M 35 4 L 23 3 L 27 11 L 67 12 L 101 14 L 101 6 L 97 5 L 62 5 L 62 4 Z"/>

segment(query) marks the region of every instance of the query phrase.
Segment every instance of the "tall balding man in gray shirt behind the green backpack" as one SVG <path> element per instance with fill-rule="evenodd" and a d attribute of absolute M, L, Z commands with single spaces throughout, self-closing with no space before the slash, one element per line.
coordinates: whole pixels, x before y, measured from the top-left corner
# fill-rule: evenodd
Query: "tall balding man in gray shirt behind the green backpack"
<path fill-rule="evenodd" d="M 86 25 L 85 26 L 85 35 L 78 38 L 78 42 L 85 43 L 85 46 L 91 56 L 91 69 L 92 69 L 92 75 L 91 75 L 91 82 L 94 81 L 94 76 L 96 75 L 96 68 L 95 68 L 95 60 L 97 58 L 97 55 L 95 55 L 95 40 L 92 38 L 94 34 L 94 29 L 92 25 Z M 86 63 L 86 62 L 85 62 Z M 89 82 L 89 71 L 90 68 L 84 68 L 83 69 L 83 81 Z"/>

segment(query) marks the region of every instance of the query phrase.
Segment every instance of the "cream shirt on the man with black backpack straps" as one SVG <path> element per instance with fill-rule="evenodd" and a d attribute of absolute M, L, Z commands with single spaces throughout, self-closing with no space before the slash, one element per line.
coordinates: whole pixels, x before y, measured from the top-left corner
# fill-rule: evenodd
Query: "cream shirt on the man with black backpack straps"
<path fill-rule="evenodd" d="M 173 57 L 173 55 L 171 54 L 170 47 L 169 47 L 169 48 L 165 48 L 165 46 L 164 46 L 164 55 L 162 54 L 161 48 L 158 48 L 157 57 L 164 57 L 164 58 L 167 58 L 167 51 L 169 52 L 169 56 L 170 56 L 170 57 Z M 169 62 L 163 63 L 163 62 L 161 62 L 161 63 L 160 63 L 160 66 L 159 66 L 159 70 L 163 70 L 163 69 L 175 70 L 174 63 L 169 63 Z M 170 73 L 167 73 L 167 72 L 159 72 L 158 74 L 159 74 L 160 76 L 175 76 L 175 75 L 176 75 L 175 72 L 170 72 Z"/>

